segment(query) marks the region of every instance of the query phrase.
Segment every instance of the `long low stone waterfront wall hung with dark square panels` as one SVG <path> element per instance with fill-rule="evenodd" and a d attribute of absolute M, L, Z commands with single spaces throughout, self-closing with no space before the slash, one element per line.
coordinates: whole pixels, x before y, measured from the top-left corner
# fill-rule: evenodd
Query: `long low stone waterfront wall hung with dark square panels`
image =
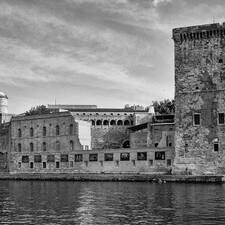
<path fill-rule="evenodd" d="M 105 159 L 105 154 L 113 154 L 111 160 Z M 121 154 L 129 153 L 128 160 L 122 160 Z M 156 153 L 163 154 L 161 159 L 156 158 Z M 68 155 L 68 161 L 62 162 L 59 152 L 40 152 L 41 162 L 34 162 L 37 153 L 13 152 L 11 153 L 10 173 L 126 173 L 126 172 L 168 172 L 171 170 L 171 149 L 108 149 L 97 151 L 64 152 Z M 54 162 L 48 162 L 47 156 L 55 156 Z M 75 160 L 75 154 L 82 155 L 82 161 Z M 96 161 L 90 160 L 90 155 L 96 154 Z M 22 162 L 22 156 L 29 156 L 26 163 Z M 146 157 L 145 157 L 146 156 Z M 31 168 L 33 163 L 33 168 Z M 46 163 L 46 168 L 43 168 Z M 57 168 L 58 163 L 59 168 Z"/>

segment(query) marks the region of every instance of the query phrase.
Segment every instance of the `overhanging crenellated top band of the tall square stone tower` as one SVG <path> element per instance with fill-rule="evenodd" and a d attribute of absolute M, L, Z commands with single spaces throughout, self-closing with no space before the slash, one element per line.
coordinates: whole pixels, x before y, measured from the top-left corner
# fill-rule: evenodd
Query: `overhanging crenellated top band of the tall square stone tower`
<path fill-rule="evenodd" d="M 225 38 L 225 22 L 173 29 L 174 42 L 185 42 L 209 38 Z"/>

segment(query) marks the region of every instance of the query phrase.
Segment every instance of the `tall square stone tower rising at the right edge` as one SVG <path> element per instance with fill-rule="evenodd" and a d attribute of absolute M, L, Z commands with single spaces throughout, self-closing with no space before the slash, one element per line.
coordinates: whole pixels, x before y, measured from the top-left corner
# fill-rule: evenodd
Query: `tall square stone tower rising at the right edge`
<path fill-rule="evenodd" d="M 225 173 L 225 23 L 177 28 L 174 169 Z"/>

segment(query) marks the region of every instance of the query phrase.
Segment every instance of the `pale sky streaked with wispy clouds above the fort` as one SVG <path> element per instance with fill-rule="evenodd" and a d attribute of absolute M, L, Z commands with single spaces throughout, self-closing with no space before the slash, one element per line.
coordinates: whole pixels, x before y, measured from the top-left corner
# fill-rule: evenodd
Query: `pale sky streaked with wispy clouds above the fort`
<path fill-rule="evenodd" d="M 172 99 L 172 29 L 224 12 L 224 0 L 0 0 L 0 91 L 10 113 Z"/>

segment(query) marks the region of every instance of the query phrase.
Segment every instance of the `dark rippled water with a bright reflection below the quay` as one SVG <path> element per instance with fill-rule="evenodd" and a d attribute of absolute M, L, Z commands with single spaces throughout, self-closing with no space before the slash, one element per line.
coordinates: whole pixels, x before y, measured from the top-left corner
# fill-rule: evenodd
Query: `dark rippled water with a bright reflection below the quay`
<path fill-rule="evenodd" d="M 225 224 L 225 185 L 0 181 L 0 224 Z"/>

